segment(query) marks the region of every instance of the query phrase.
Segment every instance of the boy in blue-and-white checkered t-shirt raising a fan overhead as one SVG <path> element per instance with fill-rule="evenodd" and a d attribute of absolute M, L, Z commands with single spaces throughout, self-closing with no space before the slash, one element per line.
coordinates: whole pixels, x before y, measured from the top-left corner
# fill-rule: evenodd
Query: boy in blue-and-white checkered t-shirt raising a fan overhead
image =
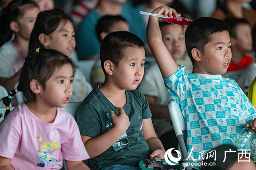
<path fill-rule="evenodd" d="M 180 16 L 165 6 L 152 13 Z M 198 18 L 188 26 L 186 48 L 194 64 L 193 72 L 189 74 L 175 63 L 164 46 L 158 18 L 149 17 L 148 44 L 166 88 L 179 104 L 187 122 L 187 149 L 192 152 L 191 161 L 201 161 L 198 158 L 202 151 L 207 152 L 221 144 L 233 144 L 244 125 L 248 127 L 248 121 L 256 117 L 255 108 L 236 81 L 219 75 L 227 71 L 232 56 L 228 29 L 225 22 L 215 18 Z M 252 129 L 255 127 L 256 119 Z"/>

